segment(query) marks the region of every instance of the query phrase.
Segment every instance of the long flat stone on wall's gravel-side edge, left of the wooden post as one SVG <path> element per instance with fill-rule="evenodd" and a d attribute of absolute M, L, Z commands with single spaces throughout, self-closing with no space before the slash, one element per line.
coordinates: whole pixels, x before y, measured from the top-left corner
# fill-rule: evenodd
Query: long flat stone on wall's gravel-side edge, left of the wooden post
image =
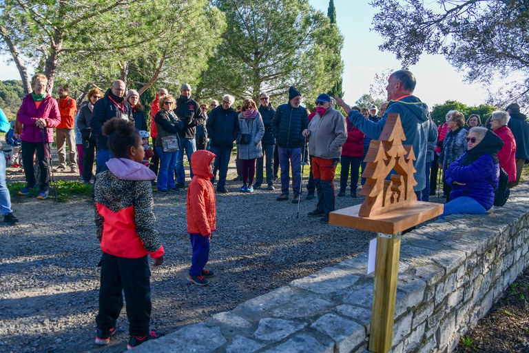
<path fill-rule="evenodd" d="M 324 268 L 310 276 L 296 279 L 290 284 L 294 287 L 326 294 L 349 288 L 358 281 L 359 274 L 351 269 Z"/>

